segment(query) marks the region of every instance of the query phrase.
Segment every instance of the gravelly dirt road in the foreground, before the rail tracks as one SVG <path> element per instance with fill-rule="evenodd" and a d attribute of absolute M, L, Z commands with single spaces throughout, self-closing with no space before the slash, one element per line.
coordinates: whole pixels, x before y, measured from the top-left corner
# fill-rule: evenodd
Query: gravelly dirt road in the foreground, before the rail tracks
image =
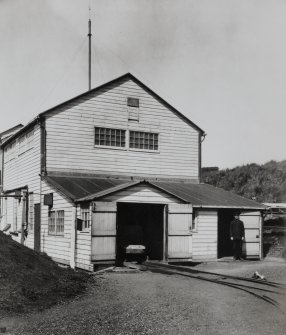
<path fill-rule="evenodd" d="M 284 270 L 284 269 L 283 269 Z M 277 297 L 285 301 L 281 295 Z M 286 334 L 283 310 L 241 290 L 160 273 L 104 273 L 50 310 L 0 318 L 8 334 Z"/>

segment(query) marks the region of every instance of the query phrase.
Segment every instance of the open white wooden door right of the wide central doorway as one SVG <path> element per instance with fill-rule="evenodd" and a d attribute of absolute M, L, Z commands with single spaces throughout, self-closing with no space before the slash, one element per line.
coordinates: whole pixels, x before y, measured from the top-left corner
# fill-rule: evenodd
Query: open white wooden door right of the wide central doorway
<path fill-rule="evenodd" d="M 192 206 L 168 205 L 168 258 L 192 257 Z"/>

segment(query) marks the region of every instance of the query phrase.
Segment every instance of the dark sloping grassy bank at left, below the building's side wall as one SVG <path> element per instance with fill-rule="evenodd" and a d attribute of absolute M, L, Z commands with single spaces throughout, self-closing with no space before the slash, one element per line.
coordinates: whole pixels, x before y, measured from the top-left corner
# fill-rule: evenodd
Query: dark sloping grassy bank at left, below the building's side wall
<path fill-rule="evenodd" d="M 45 309 L 82 293 L 89 278 L 0 232 L 0 310 Z"/>

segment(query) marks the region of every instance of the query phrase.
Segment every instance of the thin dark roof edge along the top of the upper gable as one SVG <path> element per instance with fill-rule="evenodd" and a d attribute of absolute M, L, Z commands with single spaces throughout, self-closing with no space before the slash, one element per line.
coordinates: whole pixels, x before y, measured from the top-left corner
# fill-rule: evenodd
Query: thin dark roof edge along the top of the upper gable
<path fill-rule="evenodd" d="M 161 98 L 157 93 L 155 93 L 153 90 L 151 90 L 149 87 L 147 87 L 145 84 L 143 84 L 139 79 L 137 79 L 136 77 L 134 77 L 131 73 L 126 73 L 118 78 L 115 78 L 105 84 L 102 84 L 100 86 L 97 86 L 96 88 L 91 89 L 90 91 L 86 91 L 80 95 L 75 96 L 74 98 L 71 98 L 67 101 L 64 101 L 52 108 L 49 108 L 48 110 L 38 114 L 37 117 L 35 117 L 32 121 L 30 121 L 25 127 L 23 127 L 22 129 L 20 129 L 16 134 L 14 134 L 11 138 L 9 138 L 5 144 L 11 142 L 13 139 L 15 139 L 16 137 L 18 137 L 19 135 L 23 134 L 26 130 L 28 130 L 30 127 L 32 127 L 33 125 L 35 125 L 37 122 L 39 122 L 40 119 L 45 118 L 45 116 L 48 115 L 48 113 L 55 111 L 56 109 L 63 107 L 65 104 L 71 103 L 73 101 L 75 101 L 76 99 L 82 98 L 84 96 L 86 96 L 87 94 L 90 93 L 95 93 L 100 91 L 101 89 L 104 89 L 110 85 L 116 84 L 122 80 L 127 80 L 127 79 L 131 79 L 133 80 L 137 85 L 139 85 L 141 88 L 143 88 L 144 90 L 146 90 L 149 94 L 153 95 L 156 99 L 158 99 L 158 101 L 160 101 L 164 106 L 166 106 L 167 108 L 169 108 L 173 113 L 175 113 L 177 116 L 179 116 L 180 118 L 182 118 L 187 124 L 189 124 L 191 127 L 195 128 L 197 131 L 199 131 L 202 135 L 205 135 L 205 132 L 199 127 L 197 126 L 195 123 L 193 123 L 189 118 L 187 118 L 185 115 L 183 115 L 181 112 L 179 112 L 175 107 L 171 106 L 166 100 L 164 100 L 163 98 Z"/>

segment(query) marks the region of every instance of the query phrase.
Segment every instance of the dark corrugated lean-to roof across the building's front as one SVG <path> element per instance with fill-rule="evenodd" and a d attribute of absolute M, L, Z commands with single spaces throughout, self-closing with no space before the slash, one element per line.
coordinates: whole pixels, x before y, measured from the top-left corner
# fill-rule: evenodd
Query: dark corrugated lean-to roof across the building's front
<path fill-rule="evenodd" d="M 165 181 L 130 181 L 126 179 L 50 176 L 45 180 L 68 198 L 76 202 L 104 199 L 104 196 L 137 184 L 146 184 L 177 197 L 194 207 L 265 209 L 253 200 L 208 184 Z"/>

